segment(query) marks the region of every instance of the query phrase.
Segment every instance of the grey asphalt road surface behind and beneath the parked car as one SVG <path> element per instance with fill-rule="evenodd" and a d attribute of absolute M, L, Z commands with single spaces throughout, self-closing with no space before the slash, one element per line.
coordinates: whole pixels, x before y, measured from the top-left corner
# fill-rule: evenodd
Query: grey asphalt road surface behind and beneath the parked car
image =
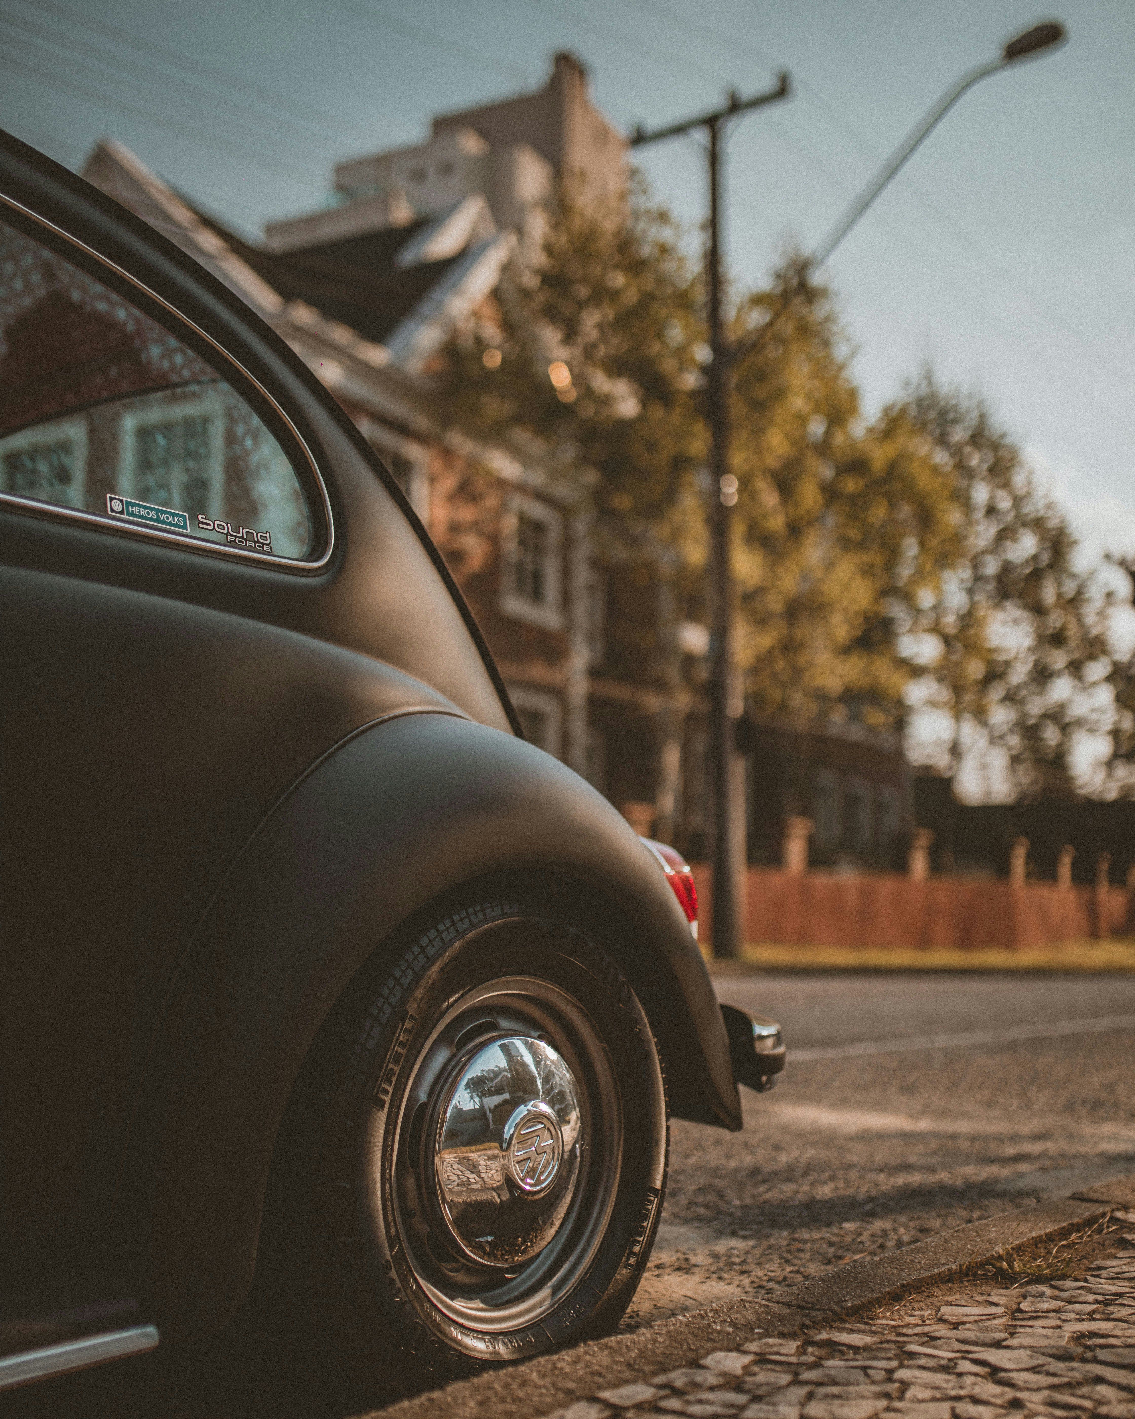
<path fill-rule="evenodd" d="M 722 1000 L 782 1022 L 789 1067 L 775 1091 L 742 1091 L 742 1134 L 674 1124 L 660 1239 L 624 1328 L 1135 1169 L 1135 976 L 775 973 L 716 985 Z M 4 1413 L 349 1412 L 328 1396 L 265 1395 L 258 1379 L 250 1389 L 240 1371 L 240 1355 L 159 1351 L 14 1392 Z"/>

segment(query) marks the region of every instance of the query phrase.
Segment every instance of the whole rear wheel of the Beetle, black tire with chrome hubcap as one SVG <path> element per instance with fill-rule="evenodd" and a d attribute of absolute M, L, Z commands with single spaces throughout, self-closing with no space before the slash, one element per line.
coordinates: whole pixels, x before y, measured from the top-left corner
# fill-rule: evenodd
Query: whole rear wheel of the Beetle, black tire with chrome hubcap
<path fill-rule="evenodd" d="M 668 1108 L 602 938 L 549 901 L 461 904 L 336 1006 L 281 1161 L 289 1274 L 338 1374 L 373 1386 L 406 1358 L 463 1374 L 621 1318 L 661 1213 Z"/>

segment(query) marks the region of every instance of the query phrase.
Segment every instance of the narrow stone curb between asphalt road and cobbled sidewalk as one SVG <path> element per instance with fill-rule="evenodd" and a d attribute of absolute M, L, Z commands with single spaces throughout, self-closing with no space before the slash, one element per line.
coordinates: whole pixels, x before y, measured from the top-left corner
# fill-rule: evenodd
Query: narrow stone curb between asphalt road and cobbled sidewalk
<path fill-rule="evenodd" d="M 1013 1247 L 1056 1239 L 1097 1222 L 1111 1208 L 1132 1206 L 1135 1175 L 1117 1178 L 1067 1202 L 987 1218 L 899 1252 L 848 1261 L 794 1290 L 779 1291 L 769 1301 L 718 1301 L 630 1335 L 586 1341 L 573 1349 L 485 1371 L 372 1413 L 383 1419 L 472 1419 L 485 1413 L 492 1419 L 531 1419 L 590 1398 L 599 1389 L 648 1381 L 661 1371 L 695 1364 L 711 1351 L 736 1349 L 758 1331 L 797 1334 L 806 1325 L 958 1276 Z"/>

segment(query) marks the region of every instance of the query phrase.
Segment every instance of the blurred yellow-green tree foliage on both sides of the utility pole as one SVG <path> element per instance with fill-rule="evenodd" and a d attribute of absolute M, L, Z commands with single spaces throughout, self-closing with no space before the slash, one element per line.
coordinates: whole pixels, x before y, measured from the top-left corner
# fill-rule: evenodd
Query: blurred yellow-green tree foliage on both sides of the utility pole
<path fill-rule="evenodd" d="M 539 447 L 600 546 L 657 583 L 671 626 L 708 620 L 702 308 L 682 233 L 641 183 L 609 207 L 562 192 L 538 257 L 514 263 L 444 373 L 448 419 Z M 909 687 L 929 684 L 955 722 L 995 727 L 1023 778 L 1061 759 L 1075 687 L 1108 667 L 1067 522 L 1013 441 L 929 376 L 867 426 L 831 294 L 803 257 L 735 299 L 731 333 L 748 702 L 894 727 Z M 672 684 L 672 636 L 640 630 Z"/>

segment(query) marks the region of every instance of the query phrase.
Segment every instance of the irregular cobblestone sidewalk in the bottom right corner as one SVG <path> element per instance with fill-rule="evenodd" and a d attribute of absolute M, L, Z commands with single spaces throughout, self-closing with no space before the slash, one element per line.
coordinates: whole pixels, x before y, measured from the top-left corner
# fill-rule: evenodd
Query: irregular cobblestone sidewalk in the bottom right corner
<path fill-rule="evenodd" d="M 758 1337 L 548 1419 L 1135 1419 L 1135 1233 L 1128 1240 L 1081 1281 L 986 1290 L 915 1323 Z"/>

